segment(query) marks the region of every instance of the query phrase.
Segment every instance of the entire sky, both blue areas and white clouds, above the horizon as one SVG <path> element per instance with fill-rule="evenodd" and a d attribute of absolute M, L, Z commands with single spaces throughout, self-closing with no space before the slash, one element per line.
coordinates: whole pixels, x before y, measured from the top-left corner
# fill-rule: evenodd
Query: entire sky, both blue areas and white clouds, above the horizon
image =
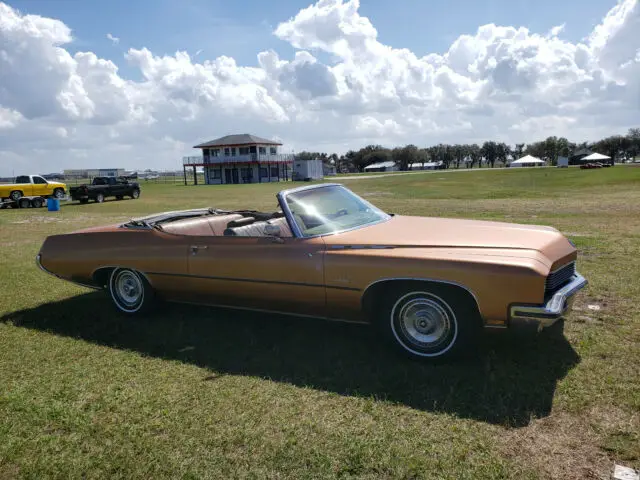
<path fill-rule="evenodd" d="M 638 0 L 0 0 L 0 176 L 640 126 Z"/>

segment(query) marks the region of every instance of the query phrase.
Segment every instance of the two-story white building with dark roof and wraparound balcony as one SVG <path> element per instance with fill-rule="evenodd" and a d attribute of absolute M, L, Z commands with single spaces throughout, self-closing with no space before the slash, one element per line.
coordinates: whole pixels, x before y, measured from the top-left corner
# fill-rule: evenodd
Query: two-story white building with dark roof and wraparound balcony
<path fill-rule="evenodd" d="M 201 143 L 193 148 L 201 149 L 202 156 L 184 157 L 182 160 L 185 184 L 187 168 L 193 168 L 194 178 L 197 179 L 197 167 L 203 168 L 208 185 L 288 180 L 293 155 L 280 153 L 281 146 L 279 142 L 248 133 L 227 135 Z"/>

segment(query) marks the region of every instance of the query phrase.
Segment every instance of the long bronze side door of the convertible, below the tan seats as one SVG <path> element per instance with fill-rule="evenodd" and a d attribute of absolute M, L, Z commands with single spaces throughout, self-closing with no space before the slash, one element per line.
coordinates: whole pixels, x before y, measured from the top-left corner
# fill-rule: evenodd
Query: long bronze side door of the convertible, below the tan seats
<path fill-rule="evenodd" d="M 325 316 L 322 238 L 194 236 L 189 282 L 197 301 Z"/>

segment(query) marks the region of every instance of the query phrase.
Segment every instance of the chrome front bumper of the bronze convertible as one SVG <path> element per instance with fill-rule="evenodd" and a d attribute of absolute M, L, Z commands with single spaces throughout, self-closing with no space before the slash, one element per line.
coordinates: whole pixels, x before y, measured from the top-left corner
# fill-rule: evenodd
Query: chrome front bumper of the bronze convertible
<path fill-rule="evenodd" d="M 511 305 L 510 325 L 535 325 L 538 330 L 560 320 L 571 308 L 573 297 L 588 285 L 587 279 L 576 272 L 571 281 L 558 290 L 544 305 Z"/>

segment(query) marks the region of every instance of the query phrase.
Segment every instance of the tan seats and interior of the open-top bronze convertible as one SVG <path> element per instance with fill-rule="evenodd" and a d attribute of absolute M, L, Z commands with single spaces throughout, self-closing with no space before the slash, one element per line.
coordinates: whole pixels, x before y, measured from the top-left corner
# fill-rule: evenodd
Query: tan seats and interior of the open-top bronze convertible
<path fill-rule="evenodd" d="M 285 217 L 256 222 L 237 213 L 176 220 L 162 225 L 162 230 L 175 235 L 264 237 L 267 224 L 279 226 L 281 237 L 293 236 Z"/>

